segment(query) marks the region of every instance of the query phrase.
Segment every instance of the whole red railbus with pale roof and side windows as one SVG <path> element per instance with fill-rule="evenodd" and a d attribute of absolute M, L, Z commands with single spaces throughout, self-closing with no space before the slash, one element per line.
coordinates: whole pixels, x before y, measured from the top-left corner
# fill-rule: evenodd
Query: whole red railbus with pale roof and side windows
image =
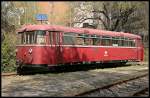
<path fill-rule="evenodd" d="M 100 62 L 143 61 L 143 44 L 138 35 L 88 28 L 26 25 L 19 29 L 19 66 L 57 66 Z"/>

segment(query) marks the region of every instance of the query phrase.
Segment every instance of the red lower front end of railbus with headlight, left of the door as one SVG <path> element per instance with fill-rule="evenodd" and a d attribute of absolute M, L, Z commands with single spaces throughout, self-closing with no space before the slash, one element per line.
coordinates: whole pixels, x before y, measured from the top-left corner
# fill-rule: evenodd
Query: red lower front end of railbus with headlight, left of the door
<path fill-rule="evenodd" d="M 50 47 L 50 46 L 49 46 Z M 32 56 L 33 60 L 30 64 L 55 64 L 55 48 L 46 46 L 19 46 L 17 58 L 21 58 L 24 63 L 30 63 L 28 58 Z M 29 55 L 29 49 L 32 49 L 32 55 Z M 26 56 L 24 56 L 26 54 Z"/>

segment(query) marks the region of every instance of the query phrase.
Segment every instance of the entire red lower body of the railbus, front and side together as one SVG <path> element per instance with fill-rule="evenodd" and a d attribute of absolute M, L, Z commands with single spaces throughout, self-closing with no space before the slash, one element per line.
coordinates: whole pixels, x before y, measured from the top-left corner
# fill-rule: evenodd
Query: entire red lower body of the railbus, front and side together
<path fill-rule="evenodd" d="M 71 63 L 81 61 L 112 61 L 112 60 L 142 60 L 139 58 L 137 48 L 114 47 L 62 47 L 58 46 L 18 46 L 17 59 L 22 59 L 26 64 Z M 29 49 L 32 54 L 29 54 Z M 57 54 L 58 52 L 59 54 Z M 56 55 L 57 54 L 57 55 Z M 140 54 L 141 55 L 141 54 Z M 32 58 L 32 60 L 31 60 Z M 60 60 L 61 59 L 61 60 Z M 58 61 L 59 60 L 59 61 Z"/>

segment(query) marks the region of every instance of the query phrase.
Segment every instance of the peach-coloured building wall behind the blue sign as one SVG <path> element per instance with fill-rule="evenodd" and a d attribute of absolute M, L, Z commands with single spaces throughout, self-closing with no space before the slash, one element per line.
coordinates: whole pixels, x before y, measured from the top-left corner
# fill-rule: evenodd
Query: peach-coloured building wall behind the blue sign
<path fill-rule="evenodd" d="M 49 24 L 65 25 L 69 6 L 66 2 L 37 2 L 38 13 L 47 14 Z"/>

